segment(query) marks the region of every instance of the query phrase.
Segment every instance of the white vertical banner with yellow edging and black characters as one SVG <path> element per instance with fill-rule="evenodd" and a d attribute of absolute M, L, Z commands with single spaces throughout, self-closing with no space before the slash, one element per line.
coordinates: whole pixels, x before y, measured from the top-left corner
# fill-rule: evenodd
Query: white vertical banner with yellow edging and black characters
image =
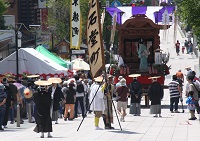
<path fill-rule="evenodd" d="M 70 5 L 70 49 L 80 49 L 82 34 L 80 0 L 71 0 Z"/>

